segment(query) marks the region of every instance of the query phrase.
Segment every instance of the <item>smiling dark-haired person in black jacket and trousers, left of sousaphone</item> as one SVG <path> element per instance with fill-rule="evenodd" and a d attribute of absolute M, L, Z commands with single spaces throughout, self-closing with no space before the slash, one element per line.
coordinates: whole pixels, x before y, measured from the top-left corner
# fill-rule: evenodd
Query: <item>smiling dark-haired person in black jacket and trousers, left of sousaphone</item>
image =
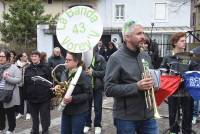
<path fill-rule="evenodd" d="M 41 81 L 32 80 L 33 76 L 41 76 L 51 81 L 51 69 L 40 62 L 40 52 L 34 51 L 31 54 L 31 64 L 25 70 L 24 86 L 27 100 L 30 104 L 32 117 L 32 134 L 39 134 L 39 115 L 42 125 L 42 134 L 48 134 L 50 126 L 50 87 Z"/>

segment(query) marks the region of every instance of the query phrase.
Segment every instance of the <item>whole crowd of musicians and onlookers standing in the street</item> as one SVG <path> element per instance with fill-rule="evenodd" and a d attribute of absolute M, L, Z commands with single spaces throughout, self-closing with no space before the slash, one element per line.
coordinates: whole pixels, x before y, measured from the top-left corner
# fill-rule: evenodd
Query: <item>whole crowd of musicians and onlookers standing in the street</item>
<path fill-rule="evenodd" d="M 144 28 L 134 21 L 124 24 L 122 34 L 124 44 L 119 50 L 112 42 L 106 48 L 99 41 L 93 49 L 92 63 L 88 68 L 84 66 L 81 53 L 68 51 L 64 58 L 59 47 L 53 49 L 48 59 L 45 52 L 33 51 L 29 57 L 26 52 L 16 55 L 13 51 L 1 49 L 0 91 L 10 90 L 12 94 L 11 99 L 5 101 L 0 92 L 0 133 L 13 134 L 16 119 L 23 116 L 27 120 L 32 119 L 31 134 L 39 134 L 40 123 L 42 134 L 49 133 L 51 100 L 56 97 L 54 93 L 59 91 L 55 86 L 59 83 L 52 79 L 51 72 L 58 64 L 65 63 L 65 67 L 60 67 L 55 72 L 55 77 L 60 82 L 70 83 L 80 66 L 83 71 L 72 95 L 64 97 L 67 106 L 61 115 L 61 134 L 88 133 L 92 125 L 95 134 L 101 134 L 104 91 L 106 96 L 114 98 L 113 118 L 117 134 L 158 134 L 155 111 L 147 107 L 145 100 L 145 92 L 152 89 L 154 80 L 142 77 L 145 71 L 142 61 L 146 61 L 149 68 L 155 68 L 157 50 L 149 52 L 150 43 L 144 35 Z M 161 68 L 165 68 L 167 72 L 178 70 L 180 73 L 199 70 L 199 64 L 195 61 L 175 56 L 186 49 L 185 33 L 174 34 L 171 44 L 173 50 L 164 57 Z M 174 63 L 180 63 L 181 68 L 177 68 Z M 54 86 L 34 80 L 34 76 L 52 81 Z M 93 104 L 94 119 L 91 116 Z M 183 112 L 181 131 L 183 134 L 192 133 L 193 111 L 198 110 L 197 105 L 198 101 L 194 102 L 182 82 L 178 90 L 168 98 L 171 134 L 178 134 L 180 131 L 176 122 L 180 108 Z M 194 112 L 194 117 L 198 112 Z M 8 130 L 5 130 L 6 118 Z"/>

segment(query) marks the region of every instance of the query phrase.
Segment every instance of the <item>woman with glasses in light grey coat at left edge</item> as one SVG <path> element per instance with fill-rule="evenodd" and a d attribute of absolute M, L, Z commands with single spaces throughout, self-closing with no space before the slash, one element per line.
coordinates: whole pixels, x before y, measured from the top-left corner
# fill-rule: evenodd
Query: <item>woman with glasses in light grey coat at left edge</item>
<path fill-rule="evenodd" d="M 21 81 L 21 73 L 15 64 L 10 64 L 10 54 L 6 50 L 0 50 L 0 90 L 13 90 L 12 99 L 8 103 L 0 102 L 0 132 L 6 128 L 6 134 L 13 134 L 16 127 L 15 106 L 20 105 L 19 88 L 16 84 Z"/>

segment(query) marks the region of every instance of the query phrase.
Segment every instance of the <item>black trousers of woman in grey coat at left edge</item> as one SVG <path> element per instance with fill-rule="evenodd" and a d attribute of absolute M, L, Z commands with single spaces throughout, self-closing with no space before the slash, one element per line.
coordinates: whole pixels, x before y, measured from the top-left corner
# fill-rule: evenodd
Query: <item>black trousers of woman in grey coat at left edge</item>
<path fill-rule="evenodd" d="M 15 106 L 11 108 L 3 108 L 3 103 L 0 102 L 0 130 L 6 127 L 6 116 L 8 119 L 8 131 L 14 131 L 16 127 Z"/>

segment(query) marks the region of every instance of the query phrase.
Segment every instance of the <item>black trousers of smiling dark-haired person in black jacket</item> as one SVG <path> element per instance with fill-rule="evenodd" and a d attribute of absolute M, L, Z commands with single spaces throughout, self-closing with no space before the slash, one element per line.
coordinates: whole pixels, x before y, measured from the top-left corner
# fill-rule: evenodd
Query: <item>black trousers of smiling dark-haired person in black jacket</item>
<path fill-rule="evenodd" d="M 39 114 L 42 134 L 48 134 L 50 126 L 50 101 L 43 103 L 29 103 L 32 117 L 32 134 L 39 134 Z"/>

